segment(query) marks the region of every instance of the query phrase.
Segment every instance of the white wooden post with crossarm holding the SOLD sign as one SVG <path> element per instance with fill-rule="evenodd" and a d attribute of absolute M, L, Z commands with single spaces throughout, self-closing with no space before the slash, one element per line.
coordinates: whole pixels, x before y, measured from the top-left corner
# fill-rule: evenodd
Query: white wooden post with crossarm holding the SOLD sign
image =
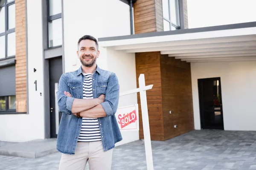
<path fill-rule="evenodd" d="M 154 170 L 150 130 L 149 130 L 149 120 L 148 120 L 148 104 L 147 104 L 147 96 L 146 96 L 146 90 L 150 90 L 152 87 L 153 85 L 145 86 L 145 76 L 144 74 L 140 74 L 139 88 L 130 90 L 130 91 L 125 91 L 120 94 L 120 96 L 125 96 L 128 94 L 134 94 L 134 93 L 140 92 L 140 104 L 141 104 L 141 114 L 142 114 L 142 123 L 143 123 L 145 154 L 146 154 L 146 162 L 147 162 L 148 170 Z"/>

